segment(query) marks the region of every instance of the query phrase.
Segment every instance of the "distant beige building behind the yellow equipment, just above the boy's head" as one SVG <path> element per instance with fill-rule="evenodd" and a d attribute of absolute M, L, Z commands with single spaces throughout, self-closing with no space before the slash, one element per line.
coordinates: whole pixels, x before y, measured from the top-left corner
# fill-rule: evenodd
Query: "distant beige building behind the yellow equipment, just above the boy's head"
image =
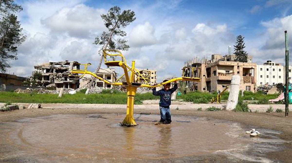
<path fill-rule="evenodd" d="M 154 84 L 156 83 L 157 80 L 157 74 L 156 74 L 156 70 L 150 70 L 150 69 L 137 69 L 140 74 L 142 74 L 145 79 L 147 80 L 147 82 L 149 84 Z M 145 80 L 143 78 L 138 78 L 138 76 L 135 75 L 135 81 L 137 81 L 137 83 L 146 83 Z"/>

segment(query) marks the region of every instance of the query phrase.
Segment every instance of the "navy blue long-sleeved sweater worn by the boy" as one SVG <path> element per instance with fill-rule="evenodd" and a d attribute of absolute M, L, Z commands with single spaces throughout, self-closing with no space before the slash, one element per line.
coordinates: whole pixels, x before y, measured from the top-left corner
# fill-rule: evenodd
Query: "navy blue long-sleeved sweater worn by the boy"
<path fill-rule="evenodd" d="M 175 83 L 174 87 L 171 89 L 168 89 L 168 91 L 161 89 L 159 91 L 156 91 L 156 88 L 152 89 L 152 94 L 155 96 L 160 96 L 159 106 L 164 108 L 169 108 L 169 105 L 171 104 L 171 94 L 178 89 L 178 84 Z"/>

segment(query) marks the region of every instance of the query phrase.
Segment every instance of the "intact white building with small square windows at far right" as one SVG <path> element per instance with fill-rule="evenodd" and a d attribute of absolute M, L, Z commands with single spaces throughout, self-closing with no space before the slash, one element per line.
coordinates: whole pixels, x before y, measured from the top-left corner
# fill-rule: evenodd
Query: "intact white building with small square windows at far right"
<path fill-rule="evenodd" d="M 289 82 L 291 82 L 292 66 L 289 66 Z M 285 83 L 285 66 L 268 60 L 263 65 L 257 65 L 257 85 L 274 85 Z"/>

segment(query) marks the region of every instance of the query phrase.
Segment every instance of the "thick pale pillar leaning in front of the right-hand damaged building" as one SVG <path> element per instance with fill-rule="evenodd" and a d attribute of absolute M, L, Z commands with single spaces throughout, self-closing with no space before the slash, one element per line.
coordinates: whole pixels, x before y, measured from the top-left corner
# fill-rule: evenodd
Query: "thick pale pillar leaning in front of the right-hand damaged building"
<path fill-rule="evenodd" d="M 239 93 L 239 85 L 240 85 L 240 76 L 233 75 L 231 79 L 230 85 L 230 93 L 226 105 L 226 110 L 233 110 L 237 105 L 238 101 L 238 93 Z"/>

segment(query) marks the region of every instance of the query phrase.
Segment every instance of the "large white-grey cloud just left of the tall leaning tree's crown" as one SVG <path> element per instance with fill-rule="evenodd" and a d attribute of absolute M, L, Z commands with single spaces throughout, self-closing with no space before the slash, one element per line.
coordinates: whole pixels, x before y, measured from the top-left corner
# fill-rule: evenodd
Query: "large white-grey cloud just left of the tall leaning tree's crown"
<path fill-rule="evenodd" d="M 42 23 L 53 33 L 68 33 L 72 37 L 92 37 L 96 31 L 104 31 L 105 26 L 100 17 L 104 9 L 94 9 L 84 4 L 73 8 L 62 8 Z M 93 35 L 95 37 L 95 35 Z"/>

